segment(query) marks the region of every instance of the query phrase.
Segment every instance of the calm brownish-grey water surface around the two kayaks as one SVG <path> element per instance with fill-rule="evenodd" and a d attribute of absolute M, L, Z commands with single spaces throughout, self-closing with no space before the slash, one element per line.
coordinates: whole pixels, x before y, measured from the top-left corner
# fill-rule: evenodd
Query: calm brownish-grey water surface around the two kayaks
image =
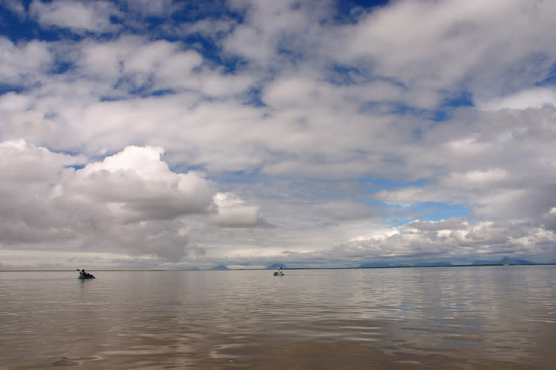
<path fill-rule="evenodd" d="M 0 272 L 0 369 L 554 369 L 556 266 Z"/>

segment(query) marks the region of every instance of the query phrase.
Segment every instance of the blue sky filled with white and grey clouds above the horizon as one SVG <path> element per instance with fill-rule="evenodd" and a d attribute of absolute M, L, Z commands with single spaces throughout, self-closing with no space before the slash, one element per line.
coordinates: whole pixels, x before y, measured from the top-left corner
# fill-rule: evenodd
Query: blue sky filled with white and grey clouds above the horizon
<path fill-rule="evenodd" d="M 556 262 L 555 16 L 0 0 L 0 269 Z"/>

